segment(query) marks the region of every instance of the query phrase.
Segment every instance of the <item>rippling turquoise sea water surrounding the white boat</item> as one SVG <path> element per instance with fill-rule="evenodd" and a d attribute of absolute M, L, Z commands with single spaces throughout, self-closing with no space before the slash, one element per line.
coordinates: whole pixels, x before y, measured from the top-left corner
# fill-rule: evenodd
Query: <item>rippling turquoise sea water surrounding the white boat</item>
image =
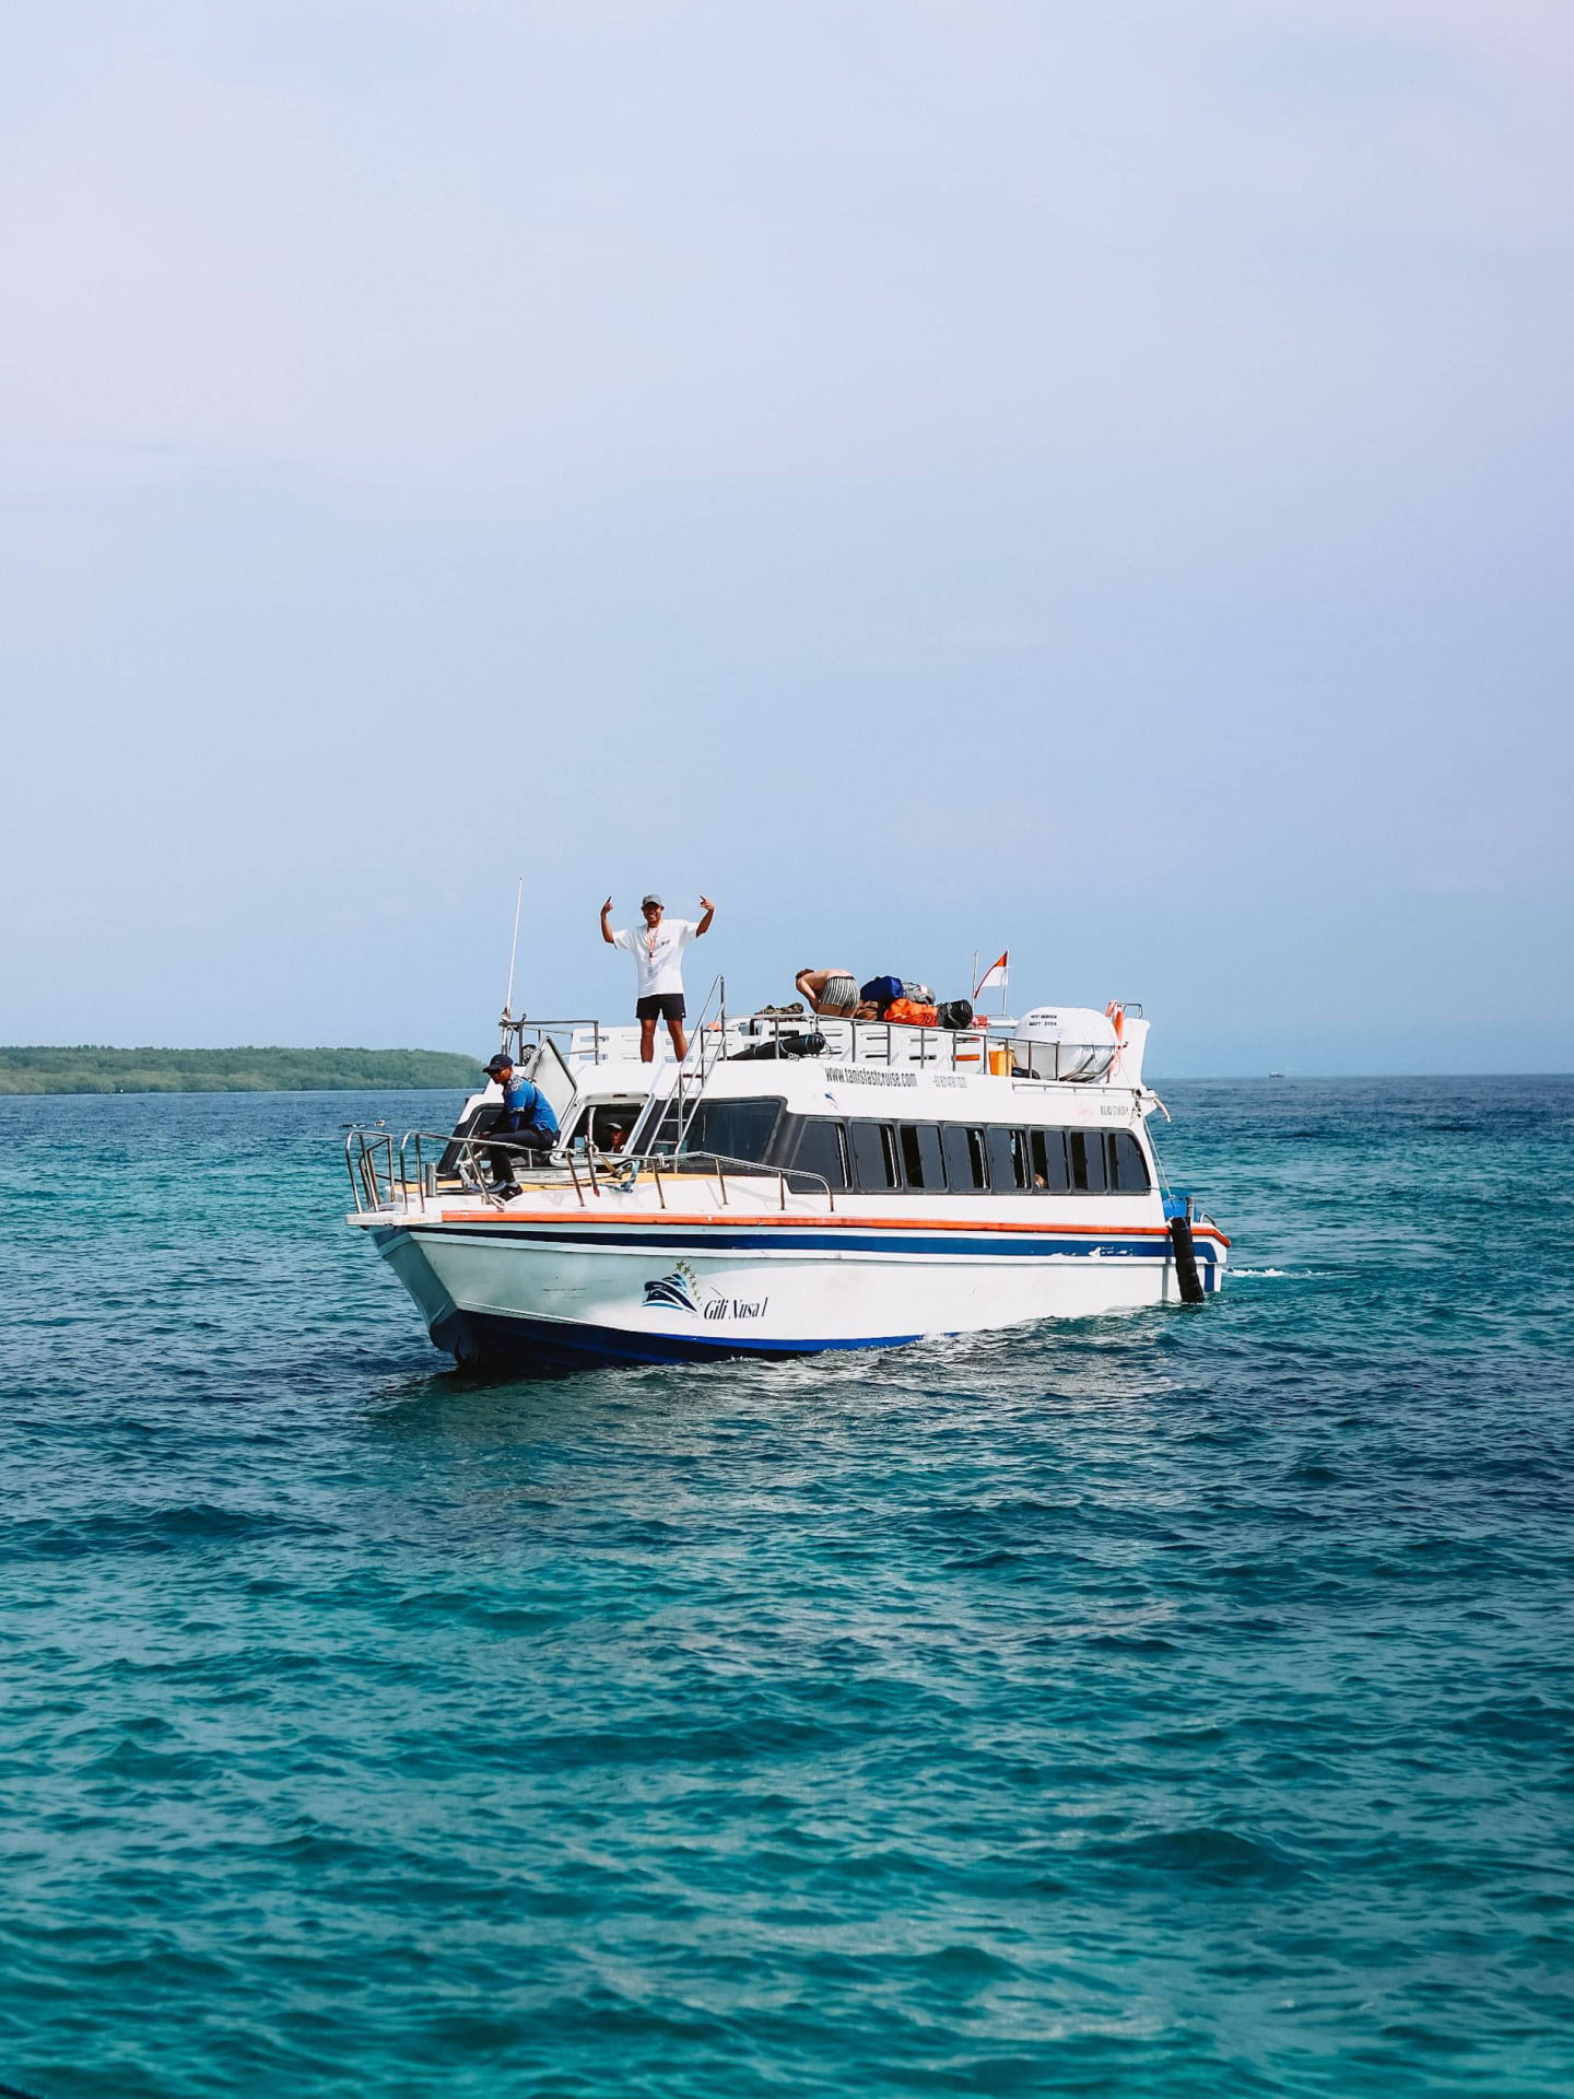
<path fill-rule="evenodd" d="M 445 1096 L 0 1102 L 0 2080 L 1574 2089 L 1574 1081 L 1167 1098 L 1215 1303 L 539 1385 Z"/>

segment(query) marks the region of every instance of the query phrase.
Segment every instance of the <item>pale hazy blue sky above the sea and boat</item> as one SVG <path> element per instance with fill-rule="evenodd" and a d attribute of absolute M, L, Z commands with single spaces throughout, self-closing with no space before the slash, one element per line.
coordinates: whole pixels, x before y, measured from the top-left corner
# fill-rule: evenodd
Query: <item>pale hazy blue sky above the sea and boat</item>
<path fill-rule="evenodd" d="M 0 17 L 0 1041 L 1570 1070 L 1566 0 Z"/>

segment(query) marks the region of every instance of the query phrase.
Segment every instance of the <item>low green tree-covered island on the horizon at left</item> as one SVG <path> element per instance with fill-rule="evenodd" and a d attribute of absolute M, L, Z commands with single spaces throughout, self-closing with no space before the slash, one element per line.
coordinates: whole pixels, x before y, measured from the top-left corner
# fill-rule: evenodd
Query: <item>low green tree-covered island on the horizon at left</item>
<path fill-rule="evenodd" d="M 481 1085 L 455 1050 L 0 1047 L 0 1094 L 363 1094 Z"/>

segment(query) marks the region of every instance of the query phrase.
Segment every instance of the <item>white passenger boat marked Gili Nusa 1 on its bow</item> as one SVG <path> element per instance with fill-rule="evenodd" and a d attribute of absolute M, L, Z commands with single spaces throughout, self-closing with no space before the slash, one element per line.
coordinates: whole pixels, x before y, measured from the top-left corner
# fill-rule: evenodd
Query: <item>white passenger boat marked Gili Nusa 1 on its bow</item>
<path fill-rule="evenodd" d="M 1165 1186 L 1146 1037 L 1133 1001 L 963 1029 L 728 1016 L 720 980 L 682 1062 L 642 1064 L 632 1026 L 504 1018 L 558 1148 L 493 1190 L 495 1083 L 449 1131 L 357 1125 L 348 1224 L 437 1348 L 525 1373 L 1196 1303 L 1230 1241 Z"/>

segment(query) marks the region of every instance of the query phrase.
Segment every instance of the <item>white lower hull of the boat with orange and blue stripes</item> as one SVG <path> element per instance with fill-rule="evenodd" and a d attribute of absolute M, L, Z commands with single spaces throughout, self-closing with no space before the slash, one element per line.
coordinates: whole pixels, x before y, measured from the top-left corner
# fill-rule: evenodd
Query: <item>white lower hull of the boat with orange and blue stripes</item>
<path fill-rule="evenodd" d="M 1179 1301 L 1163 1224 L 938 1217 L 453 1217 L 374 1238 L 432 1341 L 554 1373 L 896 1348 Z M 1226 1241 L 1196 1241 L 1207 1291 Z"/>

